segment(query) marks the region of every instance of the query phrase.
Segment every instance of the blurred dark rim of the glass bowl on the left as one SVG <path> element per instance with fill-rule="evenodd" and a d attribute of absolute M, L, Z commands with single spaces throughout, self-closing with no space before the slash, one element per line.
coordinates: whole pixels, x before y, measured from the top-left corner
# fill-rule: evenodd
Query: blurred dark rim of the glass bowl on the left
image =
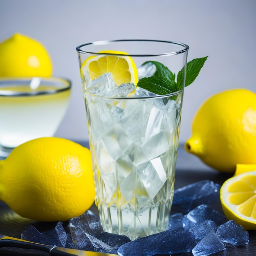
<path fill-rule="evenodd" d="M 36 96 L 36 95 L 44 95 L 44 94 L 55 94 L 58 92 L 64 92 L 66 90 L 70 90 L 72 86 L 72 82 L 70 79 L 64 78 L 64 77 L 57 77 L 57 76 L 51 76 L 51 77 L 43 77 L 43 76 L 34 76 L 34 77 L 1 77 L 0 78 L 0 88 L 2 85 L 30 85 L 32 79 L 40 79 L 41 82 L 52 82 L 52 85 L 55 84 L 62 84 L 61 87 L 56 87 L 56 89 L 48 89 L 48 90 L 38 90 L 38 91 L 30 91 L 30 92 L 15 92 L 11 90 L 0 90 L 0 96 L 2 97 L 22 97 L 22 96 Z M 18 82 L 20 84 L 15 84 L 15 82 Z M 40 85 L 39 85 L 40 86 Z"/>

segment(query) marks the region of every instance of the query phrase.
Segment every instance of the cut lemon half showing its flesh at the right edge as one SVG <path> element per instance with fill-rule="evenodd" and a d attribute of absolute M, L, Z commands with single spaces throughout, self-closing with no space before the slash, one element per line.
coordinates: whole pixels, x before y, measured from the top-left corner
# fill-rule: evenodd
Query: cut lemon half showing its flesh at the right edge
<path fill-rule="evenodd" d="M 220 188 L 220 201 L 229 220 L 244 229 L 256 229 L 256 171 L 226 180 Z"/>

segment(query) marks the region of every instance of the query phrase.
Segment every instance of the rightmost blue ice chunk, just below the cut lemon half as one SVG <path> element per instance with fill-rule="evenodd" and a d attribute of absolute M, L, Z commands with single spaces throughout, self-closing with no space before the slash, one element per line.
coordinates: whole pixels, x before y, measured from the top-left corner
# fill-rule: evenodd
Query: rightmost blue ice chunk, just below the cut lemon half
<path fill-rule="evenodd" d="M 217 236 L 222 242 L 232 245 L 246 245 L 249 243 L 249 233 L 234 220 L 229 220 L 217 229 Z"/>

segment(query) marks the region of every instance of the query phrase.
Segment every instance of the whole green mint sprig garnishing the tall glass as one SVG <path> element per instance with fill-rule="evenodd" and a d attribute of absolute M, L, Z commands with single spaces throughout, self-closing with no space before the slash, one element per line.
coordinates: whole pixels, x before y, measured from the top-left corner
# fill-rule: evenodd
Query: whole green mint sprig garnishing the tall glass
<path fill-rule="evenodd" d="M 208 56 L 203 58 L 196 58 L 187 63 L 185 87 L 195 81 L 207 58 Z M 158 95 L 165 95 L 172 92 L 177 92 L 182 89 L 182 78 L 185 70 L 184 67 L 178 72 L 177 81 L 175 81 L 175 74 L 160 62 L 146 61 L 142 65 L 145 65 L 149 62 L 155 65 L 155 74 L 153 76 L 140 79 L 137 83 L 137 86 Z"/>

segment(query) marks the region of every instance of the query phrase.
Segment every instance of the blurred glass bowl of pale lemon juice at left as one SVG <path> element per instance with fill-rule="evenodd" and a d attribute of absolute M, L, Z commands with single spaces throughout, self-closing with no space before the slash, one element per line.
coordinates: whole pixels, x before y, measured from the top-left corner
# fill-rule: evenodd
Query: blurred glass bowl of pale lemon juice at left
<path fill-rule="evenodd" d="M 52 137 L 66 113 L 70 88 L 62 78 L 1 78 L 0 155 L 31 139 Z"/>

